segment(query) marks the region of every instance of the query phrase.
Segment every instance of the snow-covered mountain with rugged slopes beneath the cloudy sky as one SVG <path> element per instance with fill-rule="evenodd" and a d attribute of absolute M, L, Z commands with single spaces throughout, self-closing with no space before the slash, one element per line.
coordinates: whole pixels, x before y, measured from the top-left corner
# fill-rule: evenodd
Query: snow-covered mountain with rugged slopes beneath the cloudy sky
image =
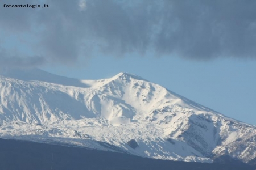
<path fill-rule="evenodd" d="M 133 74 L 78 80 L 39 69 L 0 75 L 0 138 L 149 158 L 256 157 L 256 127 Z"/>

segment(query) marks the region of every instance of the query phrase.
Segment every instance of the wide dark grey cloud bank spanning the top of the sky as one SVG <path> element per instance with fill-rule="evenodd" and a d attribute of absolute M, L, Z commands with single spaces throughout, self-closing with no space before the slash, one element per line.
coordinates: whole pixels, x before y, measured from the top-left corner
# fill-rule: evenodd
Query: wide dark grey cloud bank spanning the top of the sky
<path fill-rule="evenodd" d="M 29 33 L 42 63 L 72 63 L 93 51 L 121 57 L 150 50 L 197 60 L 256 58 L 256 1 L 1 2 L 49 5 L 0 10 L 0 31 Z"/>

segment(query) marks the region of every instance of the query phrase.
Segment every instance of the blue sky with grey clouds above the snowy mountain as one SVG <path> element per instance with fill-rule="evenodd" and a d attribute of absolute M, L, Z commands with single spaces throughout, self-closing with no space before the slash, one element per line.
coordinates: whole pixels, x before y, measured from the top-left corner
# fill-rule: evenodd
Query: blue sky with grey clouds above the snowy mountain
<path fill-rule="evenodd" d="M 256 125 L 256 1 L 0 2 L 1 69 L 133 73 Z"/>

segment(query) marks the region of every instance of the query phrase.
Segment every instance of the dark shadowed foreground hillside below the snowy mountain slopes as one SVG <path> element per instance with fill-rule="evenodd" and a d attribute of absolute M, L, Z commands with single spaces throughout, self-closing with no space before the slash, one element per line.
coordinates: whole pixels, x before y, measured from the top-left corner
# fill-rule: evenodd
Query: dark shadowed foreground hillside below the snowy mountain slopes
<path fill-rule="evenodd" d="M 52 164 L 53 154 L 53 164 Z M 254 169 L 247 165 L 174 162 L 129 154 L 0 139 L 0 170 L 26 169 Z"/>

